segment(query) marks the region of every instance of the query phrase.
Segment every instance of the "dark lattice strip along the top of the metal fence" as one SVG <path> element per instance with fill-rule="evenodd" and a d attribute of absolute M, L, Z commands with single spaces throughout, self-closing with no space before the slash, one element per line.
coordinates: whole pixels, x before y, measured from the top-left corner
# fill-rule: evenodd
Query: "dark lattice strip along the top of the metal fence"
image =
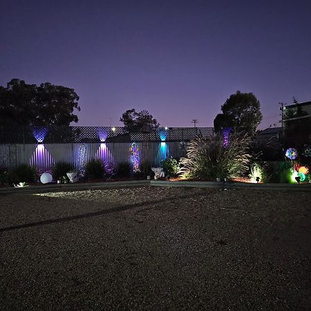
<path fill-rule="evenodd" d="M 213 135 L 211 127 L 171 127 L 129 133 L 110 126 L 0 126 L 0 144 L 59 144 L 91 142 L 189 142 L 196 136 Z"/>

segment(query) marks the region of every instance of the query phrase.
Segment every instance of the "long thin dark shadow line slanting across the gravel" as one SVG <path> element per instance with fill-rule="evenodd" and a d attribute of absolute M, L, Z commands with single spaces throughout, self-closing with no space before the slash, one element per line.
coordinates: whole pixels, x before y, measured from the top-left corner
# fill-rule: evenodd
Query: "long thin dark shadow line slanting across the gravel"
<path fill-rule="evenodd" d="M 179 200 L 179 199 L 187 199 L 187 198 L 191 198 L 191 196 L 193 196 L 193 195 L 178 196 L 178 197 L 174 197 L 174 198 L 164 198 L 164 199 L 161 199 L 160 203 L 162 204 L 163 202 L 169 202 L 169 201 Z M 200 196 L 200 195 L 196 194 L 196 196 Z M 203 196 L 203 194 L 202 194 L 202 196 Z M 90 217 L 95 217 L 95 216 L 102 216 L 105 214 L 120 213 L 122 211 L 132 209 L 134 207 L 143 207 L 143 206 L 147 206 L 147 205 L 151 205 L 151 204 L 159 204 L 159 200 L 138 202 L 138 203 L 133 203 L 133 204 L 129 204 L 129 205 L 112 207 L 110 209 L 102 209 L 100 211 L 92 211 L 91 213 L 86 213 L 86 214 L 79 214 L 79 215 L 68 216 L 68 217 L 63 217 L 63 218 L 48 219 L 48 220 L 38 221 L 35 223 L 25 223 L 23 225 L 15 225 L 15 226 L 11 226 L 11 227 L 0 228 L 0 233 L 12 231 L 12 230 L 17 230 L 17 229 L 29 228 L 29 227 L 50 225 L 52 223 L 64 223 L 66 221 L 77 220 L 77 219 L 82 219 L 82 218 L 90 218 Z M 147 209 L 151 209 L 151 207 L 144 209 L 144 211 Z"/>

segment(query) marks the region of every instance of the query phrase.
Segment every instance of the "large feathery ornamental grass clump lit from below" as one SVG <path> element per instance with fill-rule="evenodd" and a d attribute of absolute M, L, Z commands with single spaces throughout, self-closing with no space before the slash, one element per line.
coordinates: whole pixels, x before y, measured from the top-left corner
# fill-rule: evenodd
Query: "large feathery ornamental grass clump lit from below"
<path fill-rule="evenodd" d="M 229 142 L 223 135 L 196 138 L 189 142 L 187 158 L 180 159 L 182 178 L 215 180 L 244 176 L 251 161 L 251 140 L 248 135 L 232 133 Z"/>

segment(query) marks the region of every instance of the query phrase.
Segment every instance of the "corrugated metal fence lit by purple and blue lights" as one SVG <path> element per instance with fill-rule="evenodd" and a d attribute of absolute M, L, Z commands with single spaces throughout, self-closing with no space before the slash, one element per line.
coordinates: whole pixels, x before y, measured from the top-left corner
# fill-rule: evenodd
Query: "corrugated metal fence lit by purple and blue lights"
<path fill-rule="evenodd" d="M 0 166 L 17 167 L 28 163 L 48 170 L 56 162 L 70 162 L 75 169 L 91 159 L 101 159 L 113 165 L 127 162 L 133 165 L 132 142 L 67 143 L 67 144 L 0 144 Z M 137 142 L 140 164 L 148 162 L 159 167 L 162 160 L 185 156 L 187 142 Z"/>

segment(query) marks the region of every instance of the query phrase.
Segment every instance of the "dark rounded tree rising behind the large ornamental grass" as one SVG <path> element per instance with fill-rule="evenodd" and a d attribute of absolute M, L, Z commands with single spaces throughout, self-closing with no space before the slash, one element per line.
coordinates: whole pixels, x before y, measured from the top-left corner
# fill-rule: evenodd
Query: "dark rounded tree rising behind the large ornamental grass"
<path fill-rule="evenodd" d="M 216 131 L 232 127 L 254 133 L 263 119 L 260 102 L 253 93 L 236 91 L 221 106 L 221 111 L 223 113 L 219 113 L 214 119 Z"/>

